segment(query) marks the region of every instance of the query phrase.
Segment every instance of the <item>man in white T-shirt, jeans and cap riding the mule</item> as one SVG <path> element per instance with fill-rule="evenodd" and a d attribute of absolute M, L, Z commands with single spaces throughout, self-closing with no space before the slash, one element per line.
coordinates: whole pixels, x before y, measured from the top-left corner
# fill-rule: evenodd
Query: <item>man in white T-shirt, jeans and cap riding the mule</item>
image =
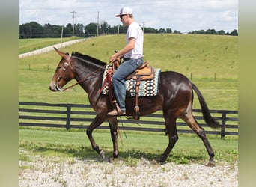
<path fill-rule="evenodd" d="M 110 62 L 115 61 L 117 58 L 124 58 L 123 63 L 115 71 L 112 82 L 115 91 L 115 99 L 118 102 L 121 112 L 117 108 L 108 113 L 109 116 L 118 116 L 126 114 L 125 97 L 126 85 L 125 78 L 130 73 L 134 72 L 138 67 L 144 63 L 143 58 L 143 40 L 144 34 L 141 27 L 133 20 L 133 13 L 130 7 L 123 7 L 120 13 L 116 15 L 120 17 L 124 26 L 129 26 L 126 36 L 126 46 L 112 55 L 109 59 Z"/>

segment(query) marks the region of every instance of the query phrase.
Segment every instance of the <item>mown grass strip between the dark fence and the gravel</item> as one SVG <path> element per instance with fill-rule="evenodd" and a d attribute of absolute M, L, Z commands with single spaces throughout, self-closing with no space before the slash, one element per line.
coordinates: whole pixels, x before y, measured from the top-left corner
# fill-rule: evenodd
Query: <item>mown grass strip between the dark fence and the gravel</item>
<path fill-rule="evenodd" d="M 168 144 L 168 137 L 163 133 L 127 132 L 127 138 L 121 132 L 124 145 L 119 138 L 121 159 L 127 163 L 136 162 L 141 157 L 156 159 L 163 153 Z M 107 156 L 112 156 L 112 141 L 109 131 L 97 130 L 94 139 Z M 216 153 L 216 163 L 237 162 L 237 137 L 220 139 L 210 135 L 210 144 Z M 62 131 L 56 129 L 19 129 L 19 148 L 27 150 L 28 154 L 42 156 L 61 156 L 79 159 L 101 159 L 92 150 L 85 132 L 82 130 Z M 19 159 L 29 160 L 25 153 L 19 154 Z M 180 135 L 167 162 L 187 164 L 191 162 L 205 163 L 209 159 L 203 142 L 196 135 Z"/>

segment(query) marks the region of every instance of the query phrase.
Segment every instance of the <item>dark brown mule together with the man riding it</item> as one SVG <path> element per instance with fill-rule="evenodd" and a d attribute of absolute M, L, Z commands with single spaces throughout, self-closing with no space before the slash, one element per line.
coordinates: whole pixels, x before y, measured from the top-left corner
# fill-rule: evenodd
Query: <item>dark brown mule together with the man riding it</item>
<path fill-rule="evenodd" d="M 128 7 L 121 9 L 121 13 L 117 15 L 121 18 L 124 25 L 129 25 L 127 31 L 127 45 L 116 54 L 112 55 L 110 61 L 124 56 L 124 62 L 115 71 L 113 76 L 113 84 L 115 96 L 120 105 L 121 112 L 113 109 L 112 99 L 105 94 L 99 94 L 102 88 L 103 74 L 107 64 L 88 55 L 82 55 L 79 52 L 73 52 L 72 55 L 55 49 L 61 56 L 61 61 L 55 70 L 55 74 L 49 85 L 51 91 L 64 91 L 64 85 L 72 79 L 76 79 L 86 93 L 88 100 L 96 111 L 96 116 L 86 129 L 86 134 L 91 142 L 91 147 L 97 151 L 100 156 L 105 157 L 104 150 L 94 141 L 92 135 L 94 129 L 100 126 L 106 120 L 109 122 L 109 129 L 113 143 L 112 158 L 118 158 L 118 119 L 117 116 L 126 114 L 132 116 L 134 111 L 134 103 L 140 105 L 141 116 L 152 114 L 155 111 L 162 110 L 165 119 L 165 129 L 168 134 L 168 145 L 159 158 L 153 159 L 153 163 L 165 162 L 171 150 L 176 144 L 179 136 L 177 133 L 177 118 L 181 118 L 186 124 L 201 138 L 204 146 L 210 156 L 207 165 L 213 166 L 214 152 L 208 141 L 204 128 L 199 126 L 198 122 L 192 114 L 192 105 L 195 91 L 201 106 L 201 112 L 208 126 L 216 129 L 220 125 L 218 121 L 210 115 L 204 96 L 201 94 L 195 84 L 193 84 L 186 76 L 174 71 L 163 71 L 159 73 L 159 87 L 155 96 L 125 97 L 126 88 L 124 85 L 125 78 L 134 70 L 141 68 L 143 64 L 143 32 L 138 24 L 133 22 L 132 10 Z M 93 79 L 92 79 L 93 78 Z M 124 102 L 126 105 L 124 105 Z M 109 159 L 112 161 L 112 159 Z"/>

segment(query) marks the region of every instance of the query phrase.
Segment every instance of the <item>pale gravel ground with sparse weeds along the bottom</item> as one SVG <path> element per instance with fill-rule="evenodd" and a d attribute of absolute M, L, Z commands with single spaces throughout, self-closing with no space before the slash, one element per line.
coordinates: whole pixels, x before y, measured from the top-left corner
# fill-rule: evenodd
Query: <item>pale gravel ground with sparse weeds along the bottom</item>
<path fill-rule="evenodd" d="M 151 165 L 29 156 L 19 161 L 19 186 L 238 186 L 238 166 Z"/>

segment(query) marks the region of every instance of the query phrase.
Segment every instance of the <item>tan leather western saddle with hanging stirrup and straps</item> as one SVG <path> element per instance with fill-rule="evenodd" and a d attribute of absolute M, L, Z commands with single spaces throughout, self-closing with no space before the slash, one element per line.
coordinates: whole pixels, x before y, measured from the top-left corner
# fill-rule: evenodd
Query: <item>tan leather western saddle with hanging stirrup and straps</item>
<path fill-rule="evenodd" d="M 112 85 L 112 75 L 115 73 L 115 70 L 118 69 L 119 67 L 119 61 L 113 62 L 112 66 L 109 66 L 108 68 L 108 76 L 104 80 L 103 87 L 106 85 L 106 82 L 108 82 L 109 87 Z M 134 79 L 136 81 L 135 85 L 135 107 L 134 107 L 134 112 L 133 112 L 133 119 L 134 120 L 139 120 L 140 118 L 140 108 L 138 106 L 138 90 L 139 90 L 139 85 L 141 84 L 141 81 L 153 79 L 155 74 L 155 70 L 153 67 L 148 66 L 148 62 L 145 61 L 144 64 L 141 65 L 135 72 L 129 74 L 127 76 L 126 80 L 129 79 Z M 103 88 L 102 88 L 103 89 Z M 101 90 L 102 91 L 102 90 Z M 115 99 L 113 99 L 112 96 L 112 88 L 109 88 L 109 99 L 112 100 L 113 104 L 117 108 L 118 111 L 121 111 L 117 102 Z"/>

